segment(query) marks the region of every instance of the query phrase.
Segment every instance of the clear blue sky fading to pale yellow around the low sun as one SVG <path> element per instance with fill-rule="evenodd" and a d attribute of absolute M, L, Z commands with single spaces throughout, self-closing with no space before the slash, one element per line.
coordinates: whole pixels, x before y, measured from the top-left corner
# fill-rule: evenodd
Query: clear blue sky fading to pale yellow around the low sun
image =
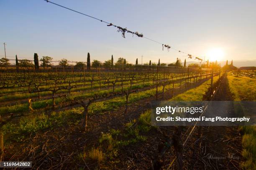
<path fill-rule="evenodd" d="M 138 31 L 205 60 L 256 59 L 256 0 L 51 0 L 57 4 Z M 0 56 L 33 59 L 34 53 L 86 61 L 124 57 L 128 62 L 170 63 L 175 50 L 58 7 L 44 0 L 0 0 Z M 218 56 L 217 56 L 218 55 Z M 143 56 L 143 57 L 141 57 Z"/>

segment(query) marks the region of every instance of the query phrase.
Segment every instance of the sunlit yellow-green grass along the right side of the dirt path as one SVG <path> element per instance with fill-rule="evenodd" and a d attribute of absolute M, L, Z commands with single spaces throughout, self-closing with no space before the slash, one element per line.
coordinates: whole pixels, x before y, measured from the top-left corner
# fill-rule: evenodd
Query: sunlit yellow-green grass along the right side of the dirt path
<path fill-rule="evenodd" d="M 233 76 L 228 72 L 228 83 L 234 100 L 256 100 L 256 79 L 243 76 Z M 244 133 L 242 139 L 243 152 L 245 161 L 242 168 L 246 170 L 256 169 L 256 126 L 242 126 L 239 129 Z"/>

